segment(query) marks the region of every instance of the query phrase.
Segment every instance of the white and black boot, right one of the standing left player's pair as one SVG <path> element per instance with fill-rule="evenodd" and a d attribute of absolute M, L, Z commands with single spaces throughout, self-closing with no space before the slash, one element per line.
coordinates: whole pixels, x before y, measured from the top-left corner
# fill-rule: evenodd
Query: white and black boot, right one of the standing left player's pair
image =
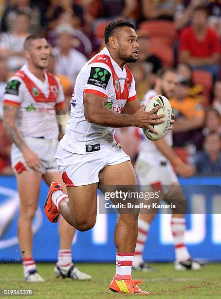
<path fill-rule="evenodd" d="M 69 270 L 64 270 L 56 263 L 54 268 L 55 277 L 72 278 L 74 280 L 90 280 L 91 275 L 81 272 L 74 264 L 71 265 Z"/>

